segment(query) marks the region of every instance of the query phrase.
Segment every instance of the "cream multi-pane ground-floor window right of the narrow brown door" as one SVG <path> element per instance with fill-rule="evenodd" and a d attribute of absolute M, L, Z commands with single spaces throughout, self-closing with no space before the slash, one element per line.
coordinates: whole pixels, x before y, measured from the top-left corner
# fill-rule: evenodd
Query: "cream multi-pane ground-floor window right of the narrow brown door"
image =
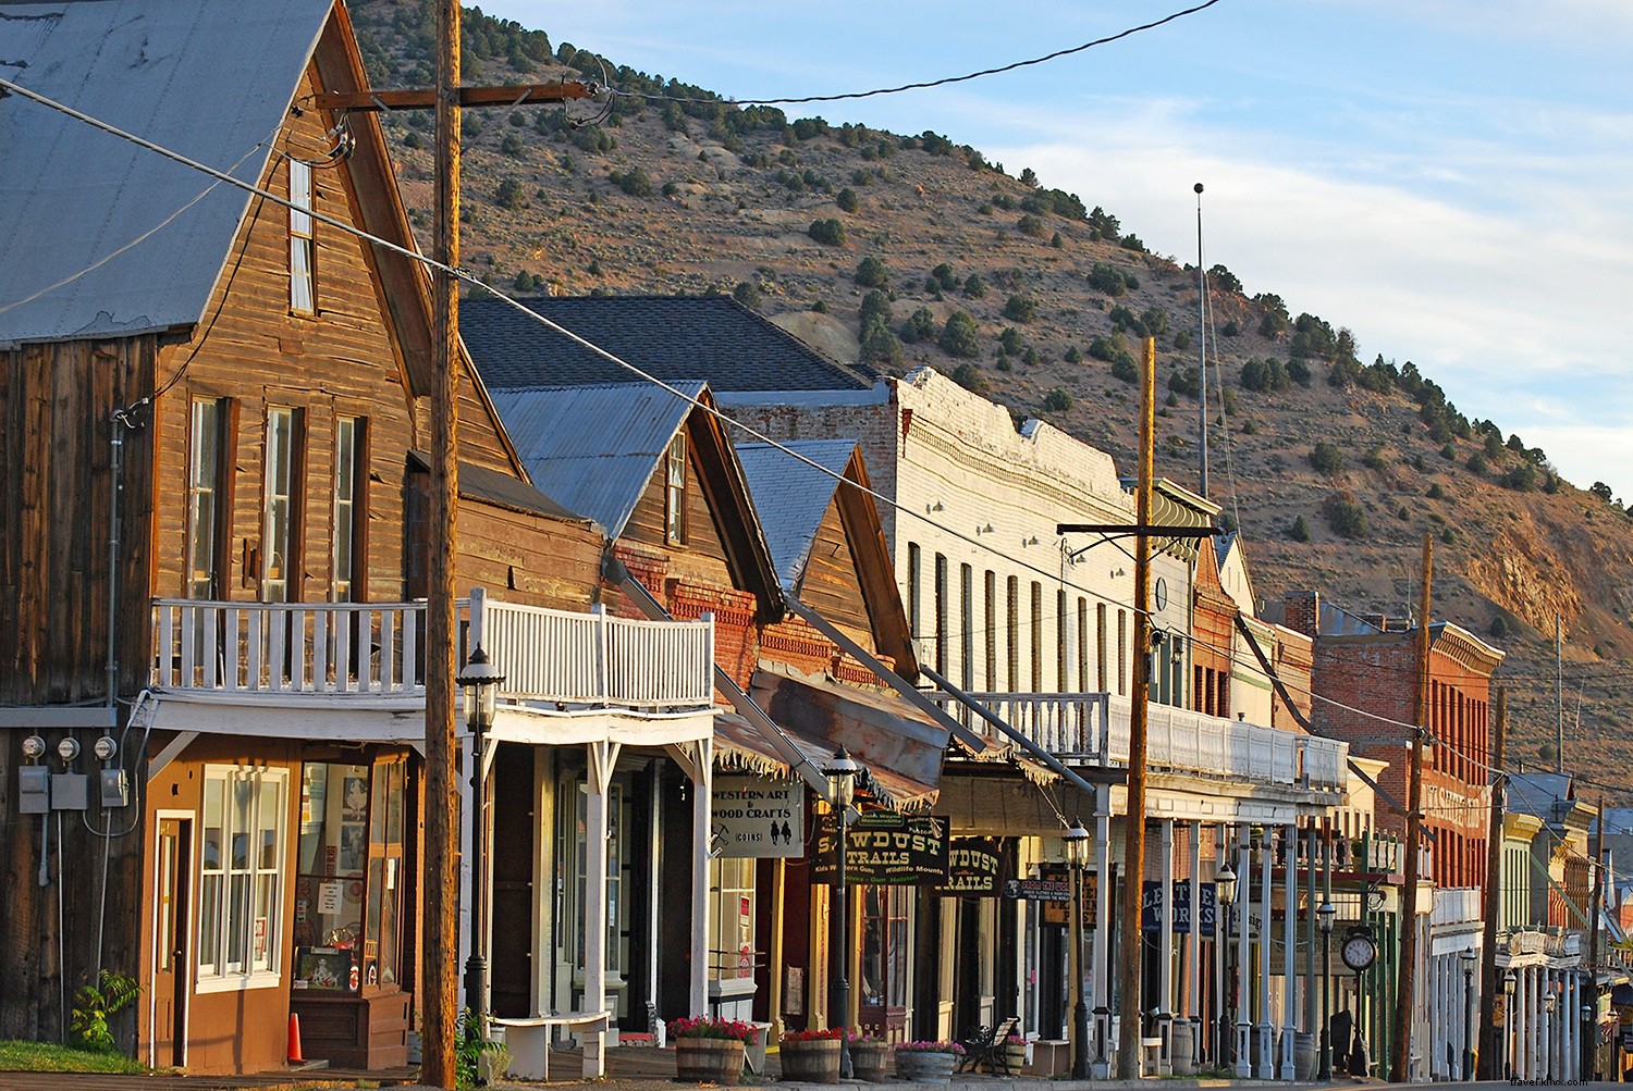
<path fill-rule="evenodd" d="M 284 770 L 204 766 L 199 992 L 278 983 Z"/>

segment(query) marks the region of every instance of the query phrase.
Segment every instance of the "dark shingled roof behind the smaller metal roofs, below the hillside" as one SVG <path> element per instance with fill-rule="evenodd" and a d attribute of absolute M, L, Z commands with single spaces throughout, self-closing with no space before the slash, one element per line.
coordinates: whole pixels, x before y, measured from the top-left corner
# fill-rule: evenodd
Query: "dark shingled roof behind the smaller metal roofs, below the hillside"
<path fill-rule="evenodd" d="M 519 300 L 663 380 L 715 390 L 867 390 L 874 373 L 830 360 L 730 295 L 590 295 Z M 459 333 L 492 390 L 627 383 L 639 377 L 505 300 L 459 305 Z"/>

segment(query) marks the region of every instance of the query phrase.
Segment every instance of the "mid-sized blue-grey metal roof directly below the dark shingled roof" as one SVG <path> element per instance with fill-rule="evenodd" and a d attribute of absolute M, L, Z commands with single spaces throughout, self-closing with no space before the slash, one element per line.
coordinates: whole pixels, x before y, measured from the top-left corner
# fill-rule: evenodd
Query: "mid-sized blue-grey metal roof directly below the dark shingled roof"
<path fill-rule="evenodd" d="M 702 380 L 671 383 L 697 398 Z M 496 390 L 493 406 L 536 489 L 624 535 L 670 440 L 692 406 L 652 383 Z"/>

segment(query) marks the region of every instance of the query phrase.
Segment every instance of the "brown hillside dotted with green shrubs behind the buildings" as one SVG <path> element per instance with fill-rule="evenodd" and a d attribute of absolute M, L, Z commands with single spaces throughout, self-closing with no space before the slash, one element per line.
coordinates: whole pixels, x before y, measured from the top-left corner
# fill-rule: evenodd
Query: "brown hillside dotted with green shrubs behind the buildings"
<path fill-rule="evenodd" d="M 429 3 L 363 0 L 353 13 L 379 85 L 429 83 Z M 465 31 L 467 83 L 583 77 L 712 98 L 474 13 Z M 594 106 L 465 114 L 467 267 L 523 292 L 735 292 L 836 359 L 936 367 L 1109 450 L 1128 473 L 1128 362 L 1150 331 L 1166 396 L 1158 473 L 1195 486 L 1195 269 L 1145 253 L 1138 225 L 1092 207 L 1094 194 L 1050 191 L 1019 166 L 1011 176 L 955 135 L 717 101 L 612 103 L 581 127 L 572 122 Z M 429 111 L 385 126 L 428 243 Z M 816 241 L 813 222 L 830 220 Z M 1551 745 L 1560 615 L 1566 765 L 1633 799 L 1628 512 L 1558 479 L 1546 453 L 1501 422 L 1468 421 L 1429 378 L 1432 360 L 1364 365 L 1365 346 L 1339 321 L 1249 298 L 1228 269 L 1210 272 L 1210 491 L 1239 522 L 1261 599 L 1313 587 L 1404 616 L 1432 533 L 1435 618 L 1509 652 L 1511 753 L 1538 765 Z M 960 311 L 973 346 L 944 339 Z M 1300 519 L 1308 535 L 1295 535 Z"/>

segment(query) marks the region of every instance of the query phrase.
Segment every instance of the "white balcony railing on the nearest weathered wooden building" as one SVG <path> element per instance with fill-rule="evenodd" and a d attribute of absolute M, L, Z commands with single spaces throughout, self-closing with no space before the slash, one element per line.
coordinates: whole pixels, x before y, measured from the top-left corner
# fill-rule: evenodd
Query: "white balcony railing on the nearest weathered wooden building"
<path fill-rule="evenodd" d="M 500 698 L 665 711 L 714 701 L 714 621 L 639 621 L 459 600 L 464 662 L 480 643 L 505 674 Z M 162 690 L 425 700 L 425 602 L 154 600 Z"/>

